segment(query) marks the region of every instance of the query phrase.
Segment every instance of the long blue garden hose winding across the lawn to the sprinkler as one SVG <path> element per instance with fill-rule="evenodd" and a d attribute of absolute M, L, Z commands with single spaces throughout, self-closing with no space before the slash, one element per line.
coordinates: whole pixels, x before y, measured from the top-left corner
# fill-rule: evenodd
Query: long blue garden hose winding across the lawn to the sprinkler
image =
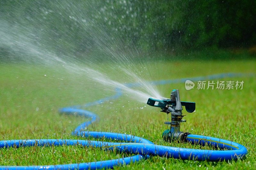
<path fill-rule="evenodd" d="M 160 80 L 151 82 L 153 85 L 164 85 L 171 83 L 183 83 L 187 79 L 192 81 L 215 79 L 215 78 L 226 78 L 226 77 L 241 77 L 241 76 L 254 76 L 254 74 L 242 74 L 242 73 L 226 73 L 216 74 L 205 77 L 195 78 L 181 78 L 174 80 Z M 128 87 L 136 87 L 138 83 L 126 84 Z M 110 97 L 106 97 L 95 102 L 87 103 L 83 107 L 89 107 L 103 103 L 108 100 L 117 99 L 122 95 L 121 89 L 116 88 L 116 94 Z M 113 159 L 106 161 L 90 162 L 90 163 L 79 163 L 79 164 L 64 164 L 64 165 L 47 165 L 47 166 L 0 166 L 0 169 L 100 169 L 100 168 L 113 168 L 114 166 L 126 165 L 131 162 L 136 162 L 141 159 L 147 159 L 149 156 L 164 156 L 167 158 L 176 159 L 188 159 L 188 160 L 206 160 L 206 161 L 224 161 L 224 160 L 236 160 L 241 159 L 247 154 L 247 149 L 235 142 L 223 140 L 214 137 L 206 137 L 200 135 L 189 134 L 185 141 L 191 144 L 200 145 L 211 145 L 219 150 L 200 150 L 200 149 L 188 149 L 178 148 L 170 146 L 155 145 L 153 142 L 126 134 L 117 134 L 109 132 L 90 132 L 82 131 L 85 127 L 95 122 L 98 116 L 90 111 L 80 109 L 82 106 L 73 106 L 60 109 L 61 113 L 66 114 L 79 114 L 84 117 L 91 118 L 90 121 L 84 122 L 79 125 L 74 131 L 73 135 L 82 137 L 94 137 L 101 138 L 105 137 L 112 140 L 122 140 L 125 143 L 113 143 L 113 142 L 101 142 L 101 141 L 90 141 L 90 140 L 72 140 L 72 139 L 29 139 L 29 140 L 6 140 L 0 141 L 0 148 L 6 147 L 24 147 L 24 146 L 62 146 L 62 145 L 81 145 L 81 146 L 92 146 L 101 147 L 106 150 L 116 150 L 119 152 L 127 152 L 129 154 L 137 154 L 135 156 L 126 157 L 122 159 Z"/>

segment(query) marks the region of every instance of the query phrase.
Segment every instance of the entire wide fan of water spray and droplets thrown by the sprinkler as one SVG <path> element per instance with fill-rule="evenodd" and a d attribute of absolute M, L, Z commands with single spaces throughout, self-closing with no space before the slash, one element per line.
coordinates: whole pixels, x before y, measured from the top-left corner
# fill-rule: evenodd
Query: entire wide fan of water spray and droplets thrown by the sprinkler
<path fill-rule="evenodd" d="M 90 81 L 102 84 L 105 89 L 109 88 L 109 90 L 113 90 L 118 87 L 122 89 L 127 96 L 142 102 L 146 102 L 149 97 L 160 98 L 161 96 L 156 87 L 148 83 L 148 81 L 153 80 L 155 76 L 152 75 L 151 70 L 155 68 L 146 68 L 142 64 L 145 60 L 150 61 L 150 57 L 148 57 L 148 59 L 144 57 L 142 60 L 136 59 L 136 57 L 140 55 L 149 54 L 145 54 L 145 51 L 136 45 L 134 45 L 132 49 L 127 49 L 125 43 L 132 43 L 129 34 L 133 34 L 133 32 L 128 31 L 127 34 L 120 35 L 120 33 L 116 31 L 116 28 L 113 28 L 113 32 L 106 31 L 104 24 L 107 23 L 111 26 L 111 23 L 120 22 L 120 20 L 118 20 L 115 15 L 113 15 L 113 20 L 104 18 L 102 16 L 104 14 L 108 16 L 112 15 L 104 6 L 99 8 L 99 4 L 97 4 L 98 6 L 96 5 L 95 7 L 95 4 L 92 2 L 88 2 L 86 5 L 84 3 L 82 4 L 86 9 L 83 9 L 79 2 L 55 2 L 55 6 L 59 7 L 59 9 L 55 9 L 55 11 L 50 9 L 49 6 L 49 9 L 47 9 L 46 7 L 38 8 L 38 6 L 32 5 L 32 11 L 36 12 L 37 15 L 35 16 L 37 17 L 28 15 L 16 19 L 12 18 L 12 21 L 3 18 L 0 19 L 0 47 L 5 47 L 11 52 L 14 58 L 13 62 L 17 62 L 16 59 L 18 58 L 28 63 L 47 64 L 53 67 L 54 65 L 62 66 L 71 74 L 79 74 Z M 124 3 L 125 8 L 126 6 L 127 4 L 125 5 Z M 98 13 L 92 12 L 93 10 L 97 10 L 97 8 L 99 8 Z M 125 8 L 121 10 L 125 10 Z M 128 13 L 131 12 L 129 15 L 134 17 L 134 12 L 132 14 L 131 8 L 132 7 L 127 10 Z M 17 10 L 18 9 L 14 8 L 14 10 L 10 12 L 17 12 Z M 37 12 L 37 10 L 39 10 L 39 12 Z M 110 11 L 113 12 L 113 10 Z M 64 40 L 63 38 L 58 39 L 60 34 L 66 33 L 63 29 L 58 29 L 59 23 L 56 23 L 57 26 L 54 29 L 45 28 L 45 22 L 49 22 L 49 20 L 44 21 L 44 19 L 51 13 L 58 13 L 60 17 L 63 17 L 57 18 L 57 21 L 63 19 L 67 20 L 67 18 L 64 17 L 68 16 L 69 26 L 75 25 L 86 30 L 88 34 L 81 34 L 81 37 L 83 37 L 84 43 L 87 43 L 88 46 L 93 46 L 93 49 L 90 51 L 88 48 L 84 53 L 79 52 L 79 54 L 77 53 L 76 55 L 76 48 L 72 43 L 68 43 L 68 40 Z M 42 16 L 38 17 L 39 14 L 42 14 Z M 102 25 L 95 21 L 97 17 L 100 19 L 103 17 L 104 23 Z M 42 25 L 36 25 L 40 21 L 42 21 Z M 40 29 L 40 27 L 42 28 Z M 129 30 L 129 27 L 130 26 L 127 25 L 127 30 Z M 56 32 L 56 37 L 51 37 L 50 32 L 52 31 Z M 69 34 L 69 37 L 72 37 L 74 33 L 70 32 Z M 124 37 L 125 41 L 122 39 Z M 89 40 L 93 40 L 93 43 L 89 42 Z M 116 67 L 109 69 L 116 71 L 116 73 L 121 71 L 122 75 L 126 75 L 126 77 L 121 77 L 119 78 L 120 81 L 117 81 L 116 74 L 115 77 L 112 78 L 111 75 L 108 75 L 108 69 L 97 66 L 99 60 L 115 63 Z M 140 67 L 138 67 L 138 65 Z M 132 82 L 138 82 L 139 87 L 144 89 L 143 92 L 124 85 L 124 83 Z"/>

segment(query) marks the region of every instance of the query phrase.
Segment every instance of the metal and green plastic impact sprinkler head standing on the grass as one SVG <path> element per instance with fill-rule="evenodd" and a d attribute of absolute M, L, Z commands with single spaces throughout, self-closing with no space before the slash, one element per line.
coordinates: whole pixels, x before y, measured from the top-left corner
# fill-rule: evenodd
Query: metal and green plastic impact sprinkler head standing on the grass
<path fill-rule="evenodd" d="M 187 112 L 192 113 L 196 109 L 196 103 L 180 101 L 180 92 L 178 89 L 172 90 L 171 99 L 163 98 L 163 100 L 157 100 L 149 98 L 147 104 L 160 107 L 162 109 L 161 112 L 165 112 L 167 115 L 171 113 L 171 122 L 164 122 L 164 124 L 170 125 L 170 129 L 163 132 L 165 141 L 183 140 L 189 134 L 180 131 L 180 123 L 186 122 L 186 120 L 182 119 L 185 116 L 182 115 L 182 106 L 185 106 Z"/>

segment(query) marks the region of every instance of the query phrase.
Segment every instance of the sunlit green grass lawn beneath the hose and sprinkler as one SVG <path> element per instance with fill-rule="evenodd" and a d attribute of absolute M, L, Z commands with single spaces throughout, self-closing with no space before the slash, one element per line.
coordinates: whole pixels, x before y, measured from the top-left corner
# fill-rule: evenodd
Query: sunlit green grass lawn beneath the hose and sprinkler
<path fill-rule="evenodd" d="M 255 60 L 148 62 L 146 80 L 185 78 L 223 72 L 256 73 Z M 116 64 L 102 64 L 111 78 Z M 140 68 L 140 64 L 135 64 Z M 154 70 L 157 68 L 157 70 Z M 46 75 L 46 76 L 44 76 Z M 150 78 L 148 75 L 151 75 Z M 154 75 L 154 77 L 152 76 Z M 220 80 L 220 79 L 218 79 Z M 255 130 L 255 77 L 224 78 L 244 80 L 242 90 L 185 90 L 184 84 L 159 85 L 161 95 L 169 97 L 174 88 L 180 89 L 183 101 L 196 102 L 196 113 L 186 113 L 181 129 L 192 134 L 219 137 L 243 144 L 248 148 L 245 159 L 229 162 L 200 162 L 193 160 L 151 157 L 116 169 L 253 169 L 256 167 Z M 127 78 L 127 82 L 132 82 Z M 84 104 L 114 94 L 103 85 L 88 81 L 83 75 L 70 73 L 59 67 L 32 64 L 0 64 L 0 140 L 63 138 L 84 139 L 71 135 L 85 119 L 74 115 L 61 115 L 61 107 Z M 99 122 L 89 131 L 109 131 L 144 137 L 155 144 L 188 148 L 206 148 L 184 143 L 166 143 L 162 132 L 166 114 L 159 108 L 146 106 L 129 97 L 86 108 L 97 113 Z M 140 107 L 143 107 L 141 109 Z M 126 157 L 124 153 L 104 151 L 100 148 L 80 146 L 23 147 L 0 149 L 0 165 L 50 165 L 91 162 Z"/>

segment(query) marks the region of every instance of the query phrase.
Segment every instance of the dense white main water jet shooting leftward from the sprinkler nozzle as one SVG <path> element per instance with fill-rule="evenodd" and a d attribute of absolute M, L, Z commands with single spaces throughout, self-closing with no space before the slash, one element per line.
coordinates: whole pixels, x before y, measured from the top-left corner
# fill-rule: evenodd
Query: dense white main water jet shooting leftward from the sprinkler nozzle
<path fill-rule="evenodd" d="M 29 30 L 27 30 L 27 28 L 24 26 L 11 28 L 10 26 L 4 25 L 4 21 L 0 21 L 0 24 L 2 28 L 0 32 L 1 45 L 8 45 L 8 47 L 11 48 L 15 53 L 23 54 L 23 56 L 21 55 L 19 59 L 22 59 L 25 62 L 36 62 L 50 66 L 61 65 L 71 74 L 80 74 L 86 77 L 88 80 L 96 81 L 104 85 L 105 90 L 106 88 L 110 88 L 112 90 L 116 87 L 120 88 L 127 96 L 130 96 L 140 102 L 145 103 L 149 97 L 159 98 L 160 96 L 153 86 L 146 83 L 146 81 L 138 77 L 131 70 L 125 70 L 124 73 L 128 73 L 129 76 L 132 76 L 132 79 L 140 82 L 141 86 L 147 89 L 146 93 L 139 90 L 134 90 L 131 87 L 125 86 L 123 83 L 114 81 L 103 72 L 91 68 L 89 64 L 83 64 L 84 66 L 82 67 L 81 64 L 76 64 L 79 63 L 79 61 L 71 60 L 72 56 L 62 55 L 59 57 L 58 55 L 54 54 L 54 51 L 47 51 L 47 48 L 43 48 L 47 45 L 41 44 L 39 46 L 38 44 L 33 43 L 33 39 L 29 38 Z M 23 32 L 26 34 L 21 33 L 19 29 L 23 30 Z M 124 56 L 123 59 L 125 59 Z"/>

